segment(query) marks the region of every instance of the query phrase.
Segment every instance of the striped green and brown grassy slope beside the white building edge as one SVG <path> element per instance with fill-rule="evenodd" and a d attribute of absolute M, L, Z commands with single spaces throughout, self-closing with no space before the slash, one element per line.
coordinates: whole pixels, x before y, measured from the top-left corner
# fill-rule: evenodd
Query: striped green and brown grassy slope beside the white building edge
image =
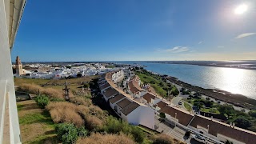
<path fill-rule="evenodd" d="M 34 100 L 17 102 L 22 143 L 57 143 L 50 114 Z"/>

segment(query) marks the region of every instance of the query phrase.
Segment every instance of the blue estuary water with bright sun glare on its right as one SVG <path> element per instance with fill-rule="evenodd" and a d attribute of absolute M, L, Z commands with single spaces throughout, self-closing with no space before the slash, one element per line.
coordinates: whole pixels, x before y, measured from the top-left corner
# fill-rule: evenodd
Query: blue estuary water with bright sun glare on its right
<path fill-rule="evenodd" d="M 136 63 L 146 66 L 146 70 L 167 74 L 194 86 L 226 90 L 256 99 L 256 70 L 154 62 Z"/>

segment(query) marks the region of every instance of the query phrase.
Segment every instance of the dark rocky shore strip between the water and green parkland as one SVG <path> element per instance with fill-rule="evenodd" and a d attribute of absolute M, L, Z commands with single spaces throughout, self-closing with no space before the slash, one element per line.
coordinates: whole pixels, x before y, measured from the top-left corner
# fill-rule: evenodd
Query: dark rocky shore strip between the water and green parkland
<path fill-rule="evenodd" d="M 178 80 L 178 78 L 170 76 L 166 76 L 166 78 L 170 80 L 170 82 L 174 82 L 179 86 L 182 86 L 192 91 L 196 91 L 211 98 L 215 98 L 223 102 L 228 102 L 230 104 L 233 104 L 234 106 L 240 106 L 246 109 L 256 110 L 256 100 L 252 98 L 247 98 L 242 94 L 232 94 L 224 90 L 204 89 L 202 87 L 193 86 L 186 82 L 182 82 Z"/>

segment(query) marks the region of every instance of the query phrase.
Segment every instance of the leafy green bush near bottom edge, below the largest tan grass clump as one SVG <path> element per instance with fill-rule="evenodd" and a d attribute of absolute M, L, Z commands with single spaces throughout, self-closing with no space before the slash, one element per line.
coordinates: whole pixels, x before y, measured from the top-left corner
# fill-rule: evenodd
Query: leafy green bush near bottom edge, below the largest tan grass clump
<path fill-rule="evenodd" d="M 64 144 L 75 143 L 78 140 L 78 130 L 72 123 L 60 123 L 56 126 L 58 139 Z"/>

